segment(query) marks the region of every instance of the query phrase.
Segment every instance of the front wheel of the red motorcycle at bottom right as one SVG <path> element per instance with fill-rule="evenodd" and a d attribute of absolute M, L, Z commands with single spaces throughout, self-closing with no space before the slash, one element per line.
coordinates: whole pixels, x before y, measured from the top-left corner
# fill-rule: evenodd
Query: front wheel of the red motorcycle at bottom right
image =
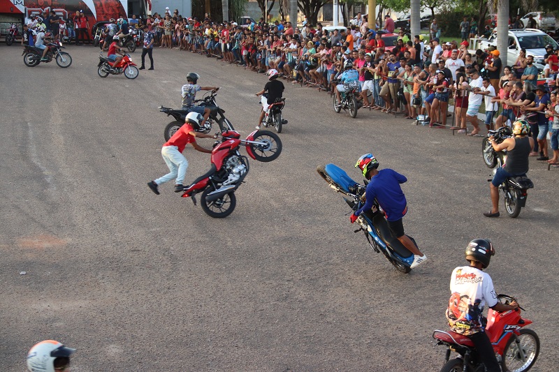
<path fill-rule="evenodd" d="M 504 347 L 504 352 L 502 354 L 503 371 L 528 371 L 532 368 L 539 355 L 539 337 L 536 332 L 532 331 L 532 329 L 521 329 L 518 332 L 520 333 L 518 336 L 520 343 L 516 343 L 515 338 L 511 337 Z M 518 355 L 518 345 L 520 345 L 524 351 L 526 357 L 525 361 L 521 360 L 521 356 Z M 528 349 L 530 345 L 532 349 Z"/>

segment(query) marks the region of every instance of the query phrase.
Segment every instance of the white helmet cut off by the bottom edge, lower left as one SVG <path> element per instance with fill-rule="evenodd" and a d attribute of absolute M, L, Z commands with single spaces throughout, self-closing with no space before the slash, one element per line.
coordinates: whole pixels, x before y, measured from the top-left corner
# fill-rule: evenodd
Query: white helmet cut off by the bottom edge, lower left
<path fill-rule="evenodd" d="M 58 341 L 45 340 L 36 343 L 27 353 L 27 369 L 31 372 L 56 372 L 70 364 L 70 355 L 75 349 L 66 348 Z"/>

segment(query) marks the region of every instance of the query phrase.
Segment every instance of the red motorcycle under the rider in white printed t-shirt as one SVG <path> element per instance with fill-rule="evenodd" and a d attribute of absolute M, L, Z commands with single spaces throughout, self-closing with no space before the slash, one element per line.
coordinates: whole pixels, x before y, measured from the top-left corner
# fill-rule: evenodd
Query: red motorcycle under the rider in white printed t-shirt
<path fill-rule="evenodd" d="M 514 297 L 498 295 L 499 302 L 510 304 Z M 523 308 L 498 313 L 489 309 L 487 314 L 486 334 L 495 350 L 495 356 L 503 371 L 528 371 L 539 355 L 539 337 L 532 329 L 523 328 L 532 324 L 532 320 L 521 317 Z M 437 345 L 447 346 L 447 355 L 441 372 L 477 372 L 485 371 L 484 364 L 479 362 L 474 343 L 456 332 L 445 332 L 436 329 L 433 338 Z M 450 359 L 451 351 L 458 352 L 460 357 Z"/>

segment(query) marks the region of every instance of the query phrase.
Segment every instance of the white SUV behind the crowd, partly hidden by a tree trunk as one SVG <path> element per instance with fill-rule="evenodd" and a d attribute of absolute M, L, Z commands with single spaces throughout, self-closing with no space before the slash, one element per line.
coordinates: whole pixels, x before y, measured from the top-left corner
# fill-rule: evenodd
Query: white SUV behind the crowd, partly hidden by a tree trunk
<path fill-rule="evenodd" d="M 523 29 L 509 31 L 509 50 L 507 53 L 507 63 L 504 66 L 513 66 L 516 62 L 520 50 L 526 50 L 526 56 L 534 57 L 534 66 L 539 69 L 544 68 L 545 46 L 551 44 L 553 49 L 559 47 L 556 40 L 544 31 L 537 29 Z M 479 49 L 487 50 L 490 45 L 497 47 L 497 34 L 494 32 L 488 39 L 479 42 Z"/>

